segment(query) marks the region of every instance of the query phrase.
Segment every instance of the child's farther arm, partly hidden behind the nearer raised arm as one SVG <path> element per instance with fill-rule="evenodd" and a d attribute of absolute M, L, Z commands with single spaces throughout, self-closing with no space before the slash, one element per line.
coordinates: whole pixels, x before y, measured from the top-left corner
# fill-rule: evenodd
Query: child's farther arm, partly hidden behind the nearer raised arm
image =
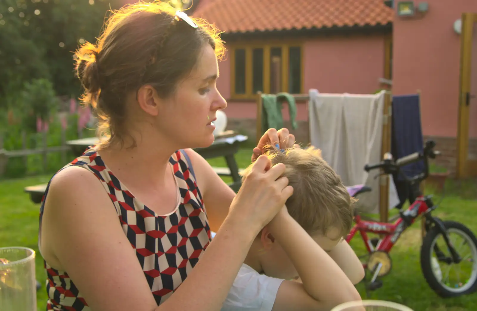
<path fill-rule="evenodd" d="M 364 278 L 363 264 L 354 253 L 351 246 L 342 240 L 328 253 L 330 257 L 343 270 L 353 284 L 358 284 Z"/>

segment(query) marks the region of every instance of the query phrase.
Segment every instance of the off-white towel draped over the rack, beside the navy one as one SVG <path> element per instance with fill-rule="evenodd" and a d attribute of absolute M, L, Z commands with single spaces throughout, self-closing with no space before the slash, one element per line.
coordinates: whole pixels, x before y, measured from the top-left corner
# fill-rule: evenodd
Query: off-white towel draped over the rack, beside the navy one
<path fill-rule="evenodd" d="M 310 90 L 310 142 L 340 175 L 346 186 L 365 184 L 373 188 L 359 196 L 361 211 L 379 212 L 379 171 L 364 171 L 364 165 L 382 160 L 384 92 L 378 94 L 320 94 Z M 399 203 L 389 178 L 389 207 Z"/>

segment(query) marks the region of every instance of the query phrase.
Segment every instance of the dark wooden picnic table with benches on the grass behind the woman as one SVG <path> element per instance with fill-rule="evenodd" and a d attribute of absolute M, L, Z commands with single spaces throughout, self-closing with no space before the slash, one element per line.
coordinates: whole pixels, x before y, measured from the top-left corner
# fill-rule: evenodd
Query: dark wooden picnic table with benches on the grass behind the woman
<path fill-rule="evenodd" d="M 227 131 L 224 135 L 217 136 L 214 143 L 207 148 L 195 148 L 194 150 L 205 159 L 221 157 L 225 158 L 228 167 L 213 167 L 220 176 L 232 177 L 232 183 L 228 184 L 235 192 L 239 191 L 241 178 L 239 166 L 235 160 L 235 154 L 239 151 L 240 144 L 248 139 L 245 135 L 238 135 L 232 131 Z M 67 141 L 75 155 L 81 155 L 91 145 L 99 143 L 97 137 L 87 137 Z M 33 203 L 40 203 L 46 191 L 46 184 L 25 187 L 25 192 L 30 194 Z"/>

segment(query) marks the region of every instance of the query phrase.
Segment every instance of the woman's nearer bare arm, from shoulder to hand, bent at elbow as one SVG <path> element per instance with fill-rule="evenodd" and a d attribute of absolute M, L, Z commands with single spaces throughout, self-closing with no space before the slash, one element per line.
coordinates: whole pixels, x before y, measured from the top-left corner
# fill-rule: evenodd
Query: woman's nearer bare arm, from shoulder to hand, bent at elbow
<path fill-rule="evenodd" d="M 254 175 L 242 186 L 245 195 L 234 200 L 207 251 L 159 307 L 110 197 L 81 167 L 66 168 L 52 179 L 42 218 L 42 249 L 61 263 L 93 311 L 218 311 L 253 239 L 292 193 L 288 181 L 279 178 L 284 166 L 265 173 L 266 166 L 270 162 L 265 157 L 257 160 Z"/>

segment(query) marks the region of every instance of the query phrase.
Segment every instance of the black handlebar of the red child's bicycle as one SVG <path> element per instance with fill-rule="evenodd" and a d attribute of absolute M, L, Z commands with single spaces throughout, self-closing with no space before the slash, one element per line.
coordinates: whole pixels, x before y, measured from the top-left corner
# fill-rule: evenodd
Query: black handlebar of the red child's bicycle
<path fill-rule="evenodd" d="M 375 165 L 365 165 L 364 170 L 369 172 L 370 170 L 376 168 L 382 168 L 384 170 L 384 174 L 392 174 L 399 172 L 399 168 L 401 166 L 406 166 L 411 163 L 418 162 L 420 160 L 424 160 L 425 172 L 419 174 L 410 179 L 418 179 L 418 178 L 426 178 L 429 174 L 429 166 L 427 163 L 428 158 L 435 158 L 437 155 L 440 155 L 439 151 L 435 151 L 434 147 L 436 146 L 436 142 L 433 140 L 429 140 L 425 143 L 424 149 L 422 152 L 415 152 L 408 156 L 404 156 L 393 161 L 392 156 L 390 154 L 384 155 L 384 161 Z"/>

